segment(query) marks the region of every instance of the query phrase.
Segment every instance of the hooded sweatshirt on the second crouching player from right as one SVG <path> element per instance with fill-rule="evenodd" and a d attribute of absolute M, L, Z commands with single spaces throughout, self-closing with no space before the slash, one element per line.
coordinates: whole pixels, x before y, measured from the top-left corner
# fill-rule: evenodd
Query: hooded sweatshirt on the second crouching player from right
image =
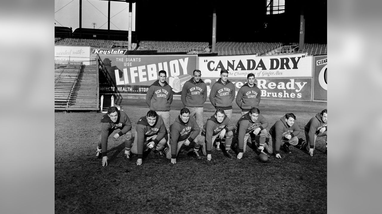
<path fill-rule="evenodd" d="M 269 135 L 276 139 L 275 142 L 275 153 L 280 153 L 280 145 L 283 137 L 290 134 L 292 137 L 298 136 L 300 133 L 300 127 L 297 122 L 293 123 L 293 126 L 288 127 L 286 125 L 285 116 L 276 121 L 276 123 L 269 129 Z"/>

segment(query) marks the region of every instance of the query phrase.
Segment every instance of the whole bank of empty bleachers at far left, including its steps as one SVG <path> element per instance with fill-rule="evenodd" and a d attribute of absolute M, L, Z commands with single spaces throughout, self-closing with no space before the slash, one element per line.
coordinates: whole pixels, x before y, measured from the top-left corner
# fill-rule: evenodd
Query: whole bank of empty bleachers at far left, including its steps
<path fill-rule="evenodd" d="M 55 61 L 54 109 L 100 110 L 96 65 Z"/>

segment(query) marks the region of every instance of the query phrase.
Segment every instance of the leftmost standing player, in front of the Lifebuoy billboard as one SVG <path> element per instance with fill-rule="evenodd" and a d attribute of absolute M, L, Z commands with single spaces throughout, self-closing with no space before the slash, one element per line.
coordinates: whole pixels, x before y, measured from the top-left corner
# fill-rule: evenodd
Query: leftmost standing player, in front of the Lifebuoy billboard
<path fill-rule="evenodd" d="M 170 134 L 170 105 L 172 103 L 172 88 L 166 82 L 167 72 L 158 72 L 159 80 L 151 84 L 146 93 L 146 104 L 150 110 L 157 112 L 165 123 L 167 134 Z M 168 136 L 170 138 L 170 136 Z M 168 143 L 168 142 L 167 142 Z"/>

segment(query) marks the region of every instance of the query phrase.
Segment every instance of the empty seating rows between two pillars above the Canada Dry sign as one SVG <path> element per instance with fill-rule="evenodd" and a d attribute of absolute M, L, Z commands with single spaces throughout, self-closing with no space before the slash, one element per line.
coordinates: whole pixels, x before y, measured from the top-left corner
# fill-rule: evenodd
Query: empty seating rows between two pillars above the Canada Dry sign
<path fill-rule="evenodd" d="M 282 46 L 278 42 L 217 42 L 216 52 L 219 56 L 257 54 L 258 56 Z"/>

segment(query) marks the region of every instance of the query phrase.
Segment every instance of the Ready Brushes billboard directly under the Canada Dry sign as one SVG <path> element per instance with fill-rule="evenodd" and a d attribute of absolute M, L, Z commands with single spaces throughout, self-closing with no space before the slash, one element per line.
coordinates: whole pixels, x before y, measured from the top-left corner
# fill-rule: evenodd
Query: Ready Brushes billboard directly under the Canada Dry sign
<path fill-rule="evenodd" d="M 218 78 L 203 79 L 207 91 Z M 228 78 L 236 87 L 236 94 L 246 82 L 246 78 Z M 261 91 L 261 99 L 312 101 L 312 78 L 256 78 L 255 83 Z"/>

